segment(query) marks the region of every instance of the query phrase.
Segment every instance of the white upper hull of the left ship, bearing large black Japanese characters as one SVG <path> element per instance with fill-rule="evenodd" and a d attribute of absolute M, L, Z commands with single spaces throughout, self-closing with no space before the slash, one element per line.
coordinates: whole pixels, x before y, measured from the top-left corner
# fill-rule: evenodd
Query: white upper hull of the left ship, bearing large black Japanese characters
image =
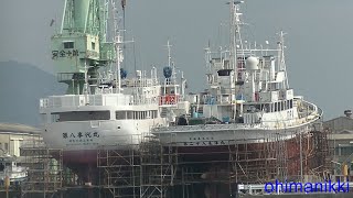
<path fill-rule="evenodd" d="M 138 144 L 142 134 L 163 119 L 54 122 L 45 125 L 44 141 L 50 147 L 66 151 Z"/>

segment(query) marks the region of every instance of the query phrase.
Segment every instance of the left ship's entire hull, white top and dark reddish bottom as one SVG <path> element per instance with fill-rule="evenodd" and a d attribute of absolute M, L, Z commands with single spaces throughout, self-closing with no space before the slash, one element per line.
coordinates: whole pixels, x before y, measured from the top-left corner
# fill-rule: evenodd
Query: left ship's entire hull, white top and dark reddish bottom
<path fill-rule="evenodd" d="M 149 129 L 163 122 L 162 118 L 53 122 L 45 125 L 43 139 L 51 148 L 62 150 L 64 164 L 83 180 L 95 180 L 99 150 L 125 152 L 135 148 Z M 57 152 L 52 154 L 60 158 Z"/>

